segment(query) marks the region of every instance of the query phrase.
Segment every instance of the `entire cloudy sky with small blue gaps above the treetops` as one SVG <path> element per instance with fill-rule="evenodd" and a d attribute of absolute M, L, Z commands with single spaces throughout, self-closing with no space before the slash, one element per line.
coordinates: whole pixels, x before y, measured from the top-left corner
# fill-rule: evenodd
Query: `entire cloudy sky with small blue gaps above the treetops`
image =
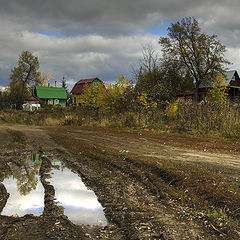
<path fill-rule="evenodd" d="M 70 89 L 81 78 L 131 78 L 142 46 L 160 53 L 159 36 L 188 16 L 218 35 L 230 68 L 240 69 L 239 0 L 0 0 L 0 6 L 0 87 L 23 50 L 38 56 L 59 85 L 64 76 Z"/>

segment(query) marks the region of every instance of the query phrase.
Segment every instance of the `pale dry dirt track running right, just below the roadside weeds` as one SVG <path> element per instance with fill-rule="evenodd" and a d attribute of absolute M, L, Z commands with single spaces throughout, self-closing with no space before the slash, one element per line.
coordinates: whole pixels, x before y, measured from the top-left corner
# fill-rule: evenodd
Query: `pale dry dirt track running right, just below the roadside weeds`
<path fill-rule="evenodd" d="M 216 149 L 210 148 L 210 152 L 207 152 L 209 146 L 205 143 L 206 146 L 201 147 L 200 145 L 202 151 L 199 151 L 194 150 L 194 147 L 197 146 L 196 143 L 194 144 L 194 142 L 190 142 L 191 144 L 189 146 L 186 139 L 173 138 L 169 141 L 169 139 L 160 139 L 161 136 L 159 137 L 158 135 L 151 134 L 143 136 L 142 133 L 127 133 L 103 129 L 92 130 L 91 128 L 69 129 L 65 131 L 64 134 L 66 137 L 70 136 L 86 143 L 95 144 L 103 149 L 110 148 L 117 151 L 126 150 L 129 153 L 140 156 L 180 161 L 189 164 L 206 164 L 208 166 L 213 166 L 216 169 L 220 168 L 220 171 L 223 169 L 225 169 L 225 171 L 226 169 L 229 169 L 231 176 L 233 176 L 234 173 L 238 176 L 240 172 L 239 147 L 235 149 L 233 148 L 236 151 L 236 154 L 220 154 L 219 151 L 223 152 L 223 149 L 221 149 L 221 146 L 216 146 L 217 144 L 215 145 Z M 181 143 L 183 147 L 174 146 L 174 144 L 177 145 L 178 143 Z M 213 150 L 215 151 L 213 152 Z"/>

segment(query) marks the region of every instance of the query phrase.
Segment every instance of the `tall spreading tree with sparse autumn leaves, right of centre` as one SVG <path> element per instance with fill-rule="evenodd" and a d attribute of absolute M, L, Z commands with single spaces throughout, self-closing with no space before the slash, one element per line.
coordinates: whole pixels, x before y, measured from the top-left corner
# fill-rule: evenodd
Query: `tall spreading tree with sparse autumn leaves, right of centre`
<path fill-rule="evenodd" d="M 168 28 L 168 37 L 160 37 L 163 58 L 176 61 L 182 71 L 188 72 L 194 79 L 195 96 L 201 83 L 208 83 L 226 69 L 229 62 L 224 59 L 225 46 L 216 35 L 201 32 L 194 17 L 183 18 Z"/>

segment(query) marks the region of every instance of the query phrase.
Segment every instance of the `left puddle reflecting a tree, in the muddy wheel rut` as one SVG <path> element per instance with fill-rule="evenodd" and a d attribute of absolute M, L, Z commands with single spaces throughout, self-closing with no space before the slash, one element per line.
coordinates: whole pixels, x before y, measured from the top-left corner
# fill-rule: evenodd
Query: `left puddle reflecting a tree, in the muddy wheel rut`
<path fill-rule="evenodd" d="M 41 215 L 44 206 L 44 188 L 38 172 L 40 164 L 25 161 L 21 167 L 11 166 L 13 176 L 2 182 L 10 194 L 1 215 Z"/>

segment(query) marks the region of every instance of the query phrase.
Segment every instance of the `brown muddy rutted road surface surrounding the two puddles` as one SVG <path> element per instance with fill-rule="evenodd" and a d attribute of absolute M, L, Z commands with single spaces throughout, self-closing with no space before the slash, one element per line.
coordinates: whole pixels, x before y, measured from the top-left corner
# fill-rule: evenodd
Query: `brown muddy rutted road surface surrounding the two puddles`
<path fill-rule="evenodd" d="M 78 146 L 64 144 L 66 139 Z M 206 139 L 96 128 L 0 125 L 0 151 L 0 182 L 11 176 L 20 179 L 20 183 L 31 182 L 26 165 L 33 169 L 35 165 L 29 162 L 36 160 L 38 154 L 40 163 L 35 174 L 44 189 L 44 206 L 39 216 L 0 215 L 0 239 L 231 239 L 204 219 L 184 217 L 180 207 L 164 201 L 158 185 L 161 179 L 154 171 L 150 174 L 143 164 L 158 160 L 182 162 L 237 179 L 239 144 L 228 147 L 227 143 L 209 139 L 206 144 Z M 139 162 L 126 158 L 131 155 L 139 156 Z M 106 225 L 73 223 L 57 205 L 56 189 L 49 183 L 52 159 L 81 177 L 95 192 Z M 22 180 L 21 174 L 18 177 L 23 168 L 27 180 Z M 59 185 L 61 181 L 64 185 L 66 179 L 60 179 Z M 4 211 L 10 199 L 2 183 L 0 211 Z"/>

